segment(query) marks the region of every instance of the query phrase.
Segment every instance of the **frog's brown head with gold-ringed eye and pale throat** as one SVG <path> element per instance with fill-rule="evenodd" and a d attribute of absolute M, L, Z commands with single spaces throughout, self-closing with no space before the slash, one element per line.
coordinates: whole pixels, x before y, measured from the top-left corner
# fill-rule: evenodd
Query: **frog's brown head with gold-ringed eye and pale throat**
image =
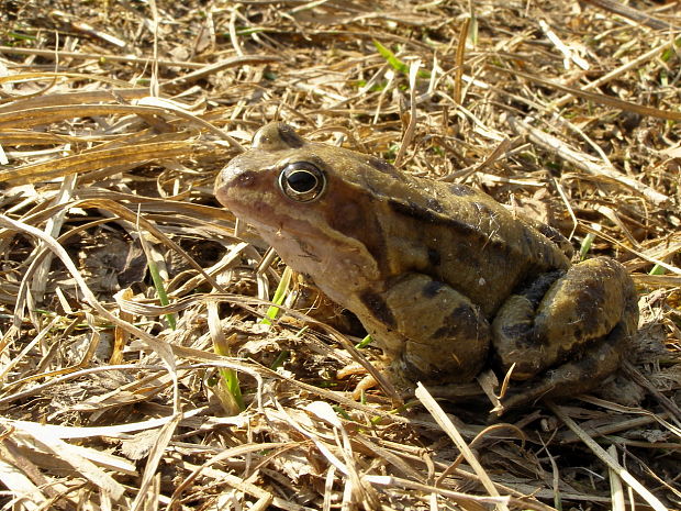
<path fill-rule="evenodd" d="M 379 158 L 308 142 L 291 126 L 270 123 L 222 169 L 215 196 L 294 269 L 316 280 L 328 271 L 366 280 L 376 277 L 376 254 L 384 246 L 377 202 L 400 179 Z"/>

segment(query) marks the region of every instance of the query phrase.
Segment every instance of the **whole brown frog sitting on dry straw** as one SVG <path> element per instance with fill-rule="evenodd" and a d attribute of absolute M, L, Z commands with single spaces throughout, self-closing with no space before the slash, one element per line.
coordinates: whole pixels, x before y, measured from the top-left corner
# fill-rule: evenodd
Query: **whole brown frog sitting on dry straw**
<path fill-rule="evenodd" d="M 615 260 L 571 265 L 560 233 L 485 193 L 286 124 L 261 127 L 215 193 L 353 311 L 403 381 L 464 382 L 515 364 L 512 378 L 529 381 L 506 407 L 579 393 L 618 367 L 637 327 L 634 285 Z"/>

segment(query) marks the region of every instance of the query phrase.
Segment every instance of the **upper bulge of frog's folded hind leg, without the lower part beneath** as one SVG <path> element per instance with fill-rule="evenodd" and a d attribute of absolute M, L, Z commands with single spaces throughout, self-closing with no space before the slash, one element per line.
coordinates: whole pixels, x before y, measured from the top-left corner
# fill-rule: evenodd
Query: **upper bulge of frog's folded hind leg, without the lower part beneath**
<path fill-rule="evenodd" d="M 492 324 L 496 356 L 504 369 L 516 364 L 516 378 L 529 378 L 563 362 L 621 322 L 624 334 L 617 336 L 622 341 L 617 349 L 623 349 L 638 322 L 632 279 L 621 264 L 606 257 L 572 266 L 535 307 L 529 293 L 514 295 Z"/>

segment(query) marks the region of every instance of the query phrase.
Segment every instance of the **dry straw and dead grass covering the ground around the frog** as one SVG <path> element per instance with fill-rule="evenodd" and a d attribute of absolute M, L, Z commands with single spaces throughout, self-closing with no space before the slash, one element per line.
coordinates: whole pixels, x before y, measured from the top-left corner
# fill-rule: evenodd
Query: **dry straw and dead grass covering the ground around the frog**
<path fill-rule="evenodd" d="M 0 1 L 0 508 L 680 508 L 680 26 L 678 0 Z M 494 425 L 354 400 L 351 343 L 261 321 L 281 267 L 212 196 L 276 119 L 623 262 L 622 376 Z"/>

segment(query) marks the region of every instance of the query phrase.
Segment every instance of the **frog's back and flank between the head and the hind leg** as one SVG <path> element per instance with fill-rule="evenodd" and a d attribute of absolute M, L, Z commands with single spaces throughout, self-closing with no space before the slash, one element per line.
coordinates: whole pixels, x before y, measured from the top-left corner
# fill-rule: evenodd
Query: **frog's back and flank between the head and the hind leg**
<path fill-rule="evenodd" d="M 569 267 L 555 241 L 468 186 L 401 176 L 379 197 L 387 271 L 427 274 L 488 315 L 527 278 Z"/>

